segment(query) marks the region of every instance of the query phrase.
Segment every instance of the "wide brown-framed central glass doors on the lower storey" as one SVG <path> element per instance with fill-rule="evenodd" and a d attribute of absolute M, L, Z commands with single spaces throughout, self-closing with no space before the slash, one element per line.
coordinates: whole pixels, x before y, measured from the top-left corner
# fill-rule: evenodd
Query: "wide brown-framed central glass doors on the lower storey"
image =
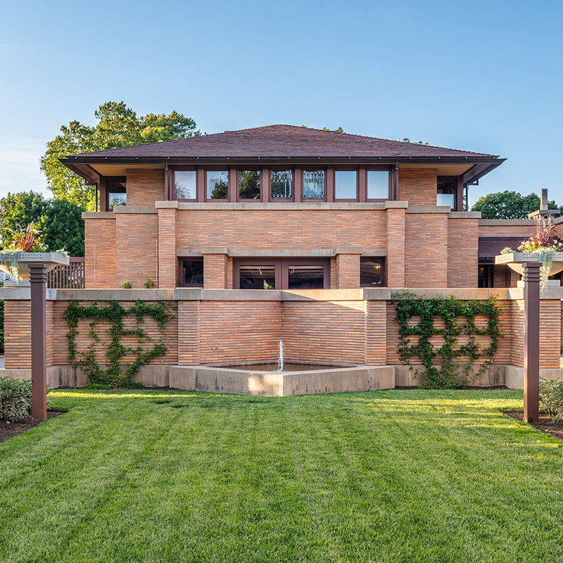
<path fill-rule="evenodd" d="M 235 289 L 329 289 L 328 258 L 236 258 Z"/>

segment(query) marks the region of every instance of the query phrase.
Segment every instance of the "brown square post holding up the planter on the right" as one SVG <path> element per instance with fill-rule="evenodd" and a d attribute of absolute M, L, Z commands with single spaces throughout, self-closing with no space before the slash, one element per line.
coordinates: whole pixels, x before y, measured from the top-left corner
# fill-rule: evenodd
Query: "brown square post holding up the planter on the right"
<path fill-rule="evenodd" d="M 524 262 L 524 420 L 538 422 L 540 403 L 540 262 Z"/>

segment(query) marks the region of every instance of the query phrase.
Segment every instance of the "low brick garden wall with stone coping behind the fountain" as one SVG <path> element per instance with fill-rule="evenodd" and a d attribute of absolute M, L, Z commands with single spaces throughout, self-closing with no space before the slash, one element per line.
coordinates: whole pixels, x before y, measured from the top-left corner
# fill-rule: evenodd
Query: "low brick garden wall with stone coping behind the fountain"
<path fill-rule="evenodd" d="M 549 372 L 550 377 L 559 373 L 561 290 L 548 288 L 540 303 L 540 369 L 548 370 L 545 373 Z M 29 289 L 3 288 L 0 293 L 5 303 L 4 373 L 25 376 L 31 367 Z M 472 383 L 508 386 L 509 381 L 510 386 L 520 386 L 524 361 L 524 301 L 521 289 L 421 289 L 413 290 L 413 293 L 424 298 L 453 295 L 461 303 L 486 301 L 494 296 L 502 338 L 498 338 L 492 366 L 488 366 L 488 358 L 475 358 L 470 370 L 472 377 L 476 377 Z M 87 383 L 84 368 L 78 365 L 87 358 L 90 364 L 95 362 L 101 369 L 112 361 L 120 365 L 137 362 L 139 369 L 134 374 L 137 380 L 148 386 L 167 386 L 170 384 L 171 366 L 220 367 L 275 361 L 281 340 L 288 362 L 350 367 L 393 366 L 397 367 L 393 369 L 396 385 L 416 385 L 421 381 L 420 377 L 413 377 L 414 372 L 403 365 L 394 298 L 396 294 L 389 289 L 48 290 L 47 360 L 50 384 L 74 386 Z M 135 309 L 139 301 L 153 308 L 141 310 L 144 314 L 140 321 L 139 311 Z M 97 310 L 115 302 L 119 303 L 122 311 L 119 313 L 122 324 L 118 340 L 112 337 L 115 330 L 113 313 L 109 315 L 106 312 L 96 317 Z M 73 321 L 76 324 L 72 338 L 69 336 L 68 313 L 71 304 L 72 310 L 82 308 L 87 313 Z M 167 311 L 165 317 L 158 316 L 160 306 Z M 94 316 L 88 316 L 91 312 L 96 312 L 96 315 L 92 313 Z M 486 326 L 482 315 L 476 315 L 474 321 L 477 328 Z M 413 317 L 412 324 L 417 322 Z M 436 316 L 433 323 L 437 328 L 443 327 L 443 318 Z M 411 336 L 410 344 L 416 343 L 418 338 L 420 336 Z M 469 338 L 473 337 L 461 334 L 456 346 L 466 345 Z M 443 346 L 444 337 L 434 335 L 430 341 L 436 348 Z M 491 336 L 477 334 L 474 341 L 483 350 L 491 343 Z M 113 349 L 116 342 L 122 348 Z M 157 346 L 163 348 L 158 348 L 157 353 L 151 355 L 151 350 Z M 70 353 L 72 347 L 75 350 L 74 361 Z M 109 355 L 108 349 L 113 350 Z M 140 355 L 144 361 L 139 363 Z M 455 359 L 456 362 L 463 360 L 463 357 Z M 410 362 L 415 367 L 421 363 L 414 357 Z M 479 367 L 483 363 L 487 365 L 486 369 Z M 512 372 L 510 369 L 507 372 L 505 366 L 509 366 Z"/>

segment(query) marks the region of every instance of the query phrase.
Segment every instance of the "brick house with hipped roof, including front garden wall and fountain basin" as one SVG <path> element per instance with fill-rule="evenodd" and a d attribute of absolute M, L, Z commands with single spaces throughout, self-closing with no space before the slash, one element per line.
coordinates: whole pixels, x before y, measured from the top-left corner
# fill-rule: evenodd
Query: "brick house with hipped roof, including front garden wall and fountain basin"
<path fill-rule="evenodd" d="M 147 385 L 285 395 L 413 384 L 392 303 L 407 287 L 496 296 L 505 338 L 481 383 L 519 387 L 521 289 L 493 257 L 534 222 L 482 220 L 464 203 L 503 160 L 289 125 L 68 156 L 62 162 L 96 184 L 97 210 L 84 213 L 86 289 L 51 291 L 51 386 L 84 383 L 68 365 L 68 302 L 110 299 L 177 310 L 165 357 L 139 375 Z M 562 220 L 555 228 L 563 236 Z M 143 289 L 148 280 L 154 289 Z M 119 289 L 125 282 L 132 289 Z M 29 301 L 23 289 L 2 291 L 13 327 L 6 368 L 16 374 L 30 367 Z M 559 377 L 562 298 L 557 287 L 542 298 L 546 377 Z M 83 349 L 87 333 L 84 324 Z M 280 340 L 289 361 L 352 372 L 276 379 L 203 369 L 272 362 Z"/>

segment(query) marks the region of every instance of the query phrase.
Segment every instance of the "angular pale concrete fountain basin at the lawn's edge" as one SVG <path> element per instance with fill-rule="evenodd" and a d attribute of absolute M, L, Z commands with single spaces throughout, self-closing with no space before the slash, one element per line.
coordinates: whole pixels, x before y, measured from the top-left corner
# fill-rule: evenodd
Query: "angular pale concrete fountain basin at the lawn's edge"
<path fill-rule="evenodd" d="M 212 367 L 170 366 L 170 387 L 190 391 L 241 393 L 265 397 L 375 391 L 395 387 L 394 366 L 358 365 L 339 367 L 299 365 L 305 369 L 277 372 L 277 364 Z M 273 369 L 272 369 L 273 368 Z"/>

